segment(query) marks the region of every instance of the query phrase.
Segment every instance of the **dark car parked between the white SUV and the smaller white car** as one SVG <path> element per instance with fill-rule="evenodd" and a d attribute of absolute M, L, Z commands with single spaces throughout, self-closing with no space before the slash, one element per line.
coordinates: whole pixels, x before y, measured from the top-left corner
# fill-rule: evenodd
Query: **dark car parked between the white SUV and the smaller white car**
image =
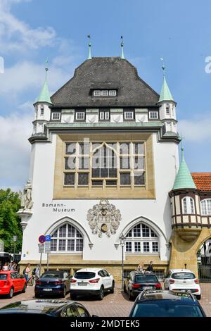
<path fill-rule="evenodd" d="M 143 289 L 162 289 L 162 286 L 154 273 L 140 273 L 132 271 L 129 276 L 124 279 L 124 293 L 128 294 L 129 300 L 134 299 Z"/>

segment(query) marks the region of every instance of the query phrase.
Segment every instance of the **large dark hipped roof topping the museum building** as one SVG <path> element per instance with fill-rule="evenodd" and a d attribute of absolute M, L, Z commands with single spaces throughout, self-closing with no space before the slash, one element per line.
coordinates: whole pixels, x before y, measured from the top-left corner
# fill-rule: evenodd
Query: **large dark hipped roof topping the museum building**
<path fill-rule="evenodd" d="M 117 96 L 94 97 L 91 89 L 118 89 Z M 51 96 L 53 106 L 156 106 L 159 94 L 143 82 L 129 61 L 119 57 L 86 60 Z"/>

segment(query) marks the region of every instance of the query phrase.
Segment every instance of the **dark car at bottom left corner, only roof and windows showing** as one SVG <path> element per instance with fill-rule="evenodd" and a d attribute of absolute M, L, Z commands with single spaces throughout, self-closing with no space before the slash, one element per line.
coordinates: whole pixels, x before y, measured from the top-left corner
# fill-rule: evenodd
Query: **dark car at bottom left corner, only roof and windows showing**
<path fill-rule="evenodd" d="M 15 315 L 46 315 L 51 317 L 91 317 L 87 308 L 82 304 L 70 300 L 24 300 L 13 302 L 0 308 L 2 314 Z M 0 317 L 1 318 L 1 317 Z"/>

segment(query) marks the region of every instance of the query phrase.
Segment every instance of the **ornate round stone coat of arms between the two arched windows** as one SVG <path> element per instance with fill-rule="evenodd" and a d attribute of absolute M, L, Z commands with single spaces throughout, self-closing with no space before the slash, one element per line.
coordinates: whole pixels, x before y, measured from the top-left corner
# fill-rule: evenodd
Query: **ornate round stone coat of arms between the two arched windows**
<path fill-rule="evenodd" d="M 91 232 L 98 237 L 106 233 L 107 237 L 115 235 L 121 220 L 120 210 L 107 199 L 102 199 L 99 204 L 94 205 L 87 213 L 87 220 Z"/>

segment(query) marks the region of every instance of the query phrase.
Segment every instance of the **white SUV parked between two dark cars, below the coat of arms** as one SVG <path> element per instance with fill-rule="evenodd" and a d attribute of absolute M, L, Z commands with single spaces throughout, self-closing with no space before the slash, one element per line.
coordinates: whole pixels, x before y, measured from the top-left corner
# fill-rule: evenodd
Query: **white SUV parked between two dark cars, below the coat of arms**
<path fill-rule="evenodd" d="M 104 293 L 114 292 L 115 281 L 105 269 L 87 268 L 77 270 L 70 281 L 70 297 L 75 300 L 78 295 L 97 295 L 103 299 Z"/>

